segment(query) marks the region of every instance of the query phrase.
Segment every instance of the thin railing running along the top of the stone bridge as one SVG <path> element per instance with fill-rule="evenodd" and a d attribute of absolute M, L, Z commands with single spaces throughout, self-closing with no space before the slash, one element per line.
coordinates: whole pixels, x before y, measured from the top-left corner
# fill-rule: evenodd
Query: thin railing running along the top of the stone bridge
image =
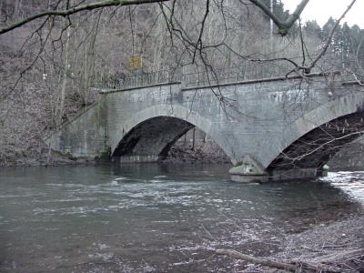
<path fill-rule="evenodd" d="M 314 56 L 311 56 L 314 57 Z M 299 63 L 299 58 L 294 57 L 290 60 Z M 219 86 L 224 84 L 260 81 L 262 79 L 286 78 L 295 76 L 291 65 L 285 59 L 250 60 L 245 61 L 239 66 L 224 68 L 211 67 L 187 67 L 181 66 L 170 70 L 160 70 L 152 72 L 139 71 L 135 74 L 126 76 L 124 74 L 100 75 L 96 78 L 95 87 L 101 93 L 115 90 L 126 90 L 143 86 L 157 86 L 173 83 L 180 83 L 182 88 L 192 88 L 199 86 Z M 290 67 L 290 68 L 289 68 Z M 311 70 L 312 75 L 337 74 L 345 78 L 346 81 L 364 82 L 360 71 L 348 69 L 338 61 L 338 56 L 329 54 L 322 58 L 319 66 Z M 307 76 L 307 75 L 305 75 Z M 308 75 L 309 76 L 309 75 Z"/>

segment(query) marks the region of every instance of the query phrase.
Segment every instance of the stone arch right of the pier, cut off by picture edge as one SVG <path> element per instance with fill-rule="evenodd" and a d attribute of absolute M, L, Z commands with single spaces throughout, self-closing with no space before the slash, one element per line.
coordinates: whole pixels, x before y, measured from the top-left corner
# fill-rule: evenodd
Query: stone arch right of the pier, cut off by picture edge
<path fill-rule="evenodd" d="M 267 170 L 317 168 L 364 131 L 364 94 L 342 96 L 287 126 L 264 165 Z M 276 139 L 277 140 L 277 139 Z"/>

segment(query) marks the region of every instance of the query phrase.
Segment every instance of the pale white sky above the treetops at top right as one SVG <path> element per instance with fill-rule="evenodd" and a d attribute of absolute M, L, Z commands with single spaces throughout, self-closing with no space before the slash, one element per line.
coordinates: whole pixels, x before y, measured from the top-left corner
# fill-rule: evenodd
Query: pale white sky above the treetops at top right
<path fill-rule="evenodd" d="M 319 25 L 324 25 L 329 16 L 333 18 L 339 18 L 345 11 L 347 6 L 352 0 L 310 0 L 306 6 L 302 18 L 304 21 L 315 19 Z M 285 7 L 290 11 L 294 10 L 300 0 L 282 0 Z M 357 0 L 353 5 L 348 15 L 342 20 L 342 22 L 348 22 L 348 24 L 357 24 L 360 28 L 364 28 L 364 0 Z"/>

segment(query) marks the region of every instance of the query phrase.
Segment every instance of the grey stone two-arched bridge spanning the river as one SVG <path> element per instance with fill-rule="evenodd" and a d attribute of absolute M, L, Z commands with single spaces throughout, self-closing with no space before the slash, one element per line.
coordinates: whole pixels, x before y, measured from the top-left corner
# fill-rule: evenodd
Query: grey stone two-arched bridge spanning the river
<path fill-rule="evenodd" d="M 361 135 L 363 111 L 364 86 L 336 74 L 197 87 L 175 82 L 100 92 L 46 141 L 73 157 L 154 162 L 197 126 L 236 166 L 234 180 L 316 177 Z"/>

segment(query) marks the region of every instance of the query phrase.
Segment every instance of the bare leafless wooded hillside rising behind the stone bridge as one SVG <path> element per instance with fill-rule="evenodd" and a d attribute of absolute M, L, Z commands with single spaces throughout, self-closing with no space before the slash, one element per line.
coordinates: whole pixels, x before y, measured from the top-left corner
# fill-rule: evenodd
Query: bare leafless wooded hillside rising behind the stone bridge
<path fill-rule="evenodd" d="M 275 15 L 287 18 L 283 3 L 273 2 Z M 87 3 L 3 0 L 0 28 Z M 325 56 L 308 72 L 363 75 L 364 30 L 344 22 L 329 18 L 321 27 L 298 20 L 282 35 L 261 9 L 238 0 L 100 7 L 31 21 L 0 35 L 0 166 L 48 164 L 45 136 L 92 104 L 103 79 L 251 64 L 264 68 L 257 77 L 277 71 L 304 76 L 325 45 Z"/>

